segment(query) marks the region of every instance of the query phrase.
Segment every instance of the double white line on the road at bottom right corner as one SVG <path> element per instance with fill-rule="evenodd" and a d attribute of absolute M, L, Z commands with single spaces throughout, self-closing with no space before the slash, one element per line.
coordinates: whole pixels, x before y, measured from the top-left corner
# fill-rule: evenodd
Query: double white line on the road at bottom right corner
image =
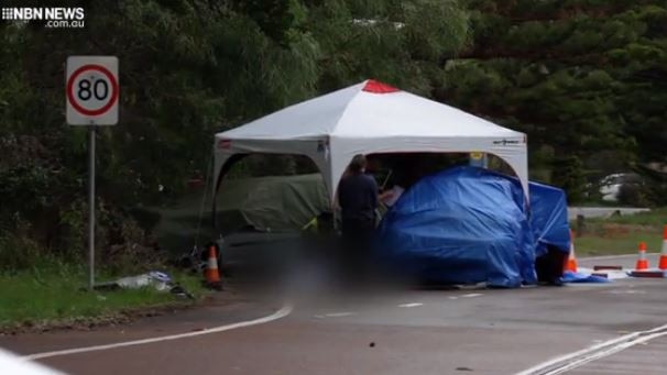
<path fill-rule="evenodd" d="M 656 327 L 648 331 L 636 331 L 612 340 L 603 341 L 587 349 L 566 354 L 540 363 L 515 375 L 557 375 L 580 367 L 589 362 L 610 356 L 627 348 L 646 343 L 653 339 L 667 335 L 667 324 Z M 564 363 L 561 366 L 557 366 Z M 553 370 L 550 367 L 557 366 Z"/>

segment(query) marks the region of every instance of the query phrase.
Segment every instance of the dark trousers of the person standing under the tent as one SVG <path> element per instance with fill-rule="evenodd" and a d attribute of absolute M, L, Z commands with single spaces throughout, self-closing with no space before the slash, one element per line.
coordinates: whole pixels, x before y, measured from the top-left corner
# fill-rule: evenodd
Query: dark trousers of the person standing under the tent
<path fill-rule="evenodd" d="M 360 280 L 367 276 L 374 230 L 374 220 L 342 221 L 342 267 L 351 280 Z"/>

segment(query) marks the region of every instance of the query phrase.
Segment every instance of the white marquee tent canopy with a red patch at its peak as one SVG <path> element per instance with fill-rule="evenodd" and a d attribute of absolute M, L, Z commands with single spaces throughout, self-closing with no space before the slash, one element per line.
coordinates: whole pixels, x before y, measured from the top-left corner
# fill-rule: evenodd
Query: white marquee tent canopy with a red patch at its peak
<path fill-rule="evenodd" d="M 238 154 L 305 155 L 318 166 L 334 198 L 357 154 L 482 152 L 504 159 L 521 179 L 524 192 L 528 191 L 524 133 L 375 80 L 218 133 L 214 148 L 216 189 L 223 166 Z"/>

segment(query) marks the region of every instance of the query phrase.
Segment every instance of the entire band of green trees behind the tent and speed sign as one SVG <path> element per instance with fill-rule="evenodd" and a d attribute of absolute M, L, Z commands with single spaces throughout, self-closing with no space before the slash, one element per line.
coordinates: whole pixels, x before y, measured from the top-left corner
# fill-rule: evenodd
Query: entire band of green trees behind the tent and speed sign
<path fill-rule="evenodd" d="M 121 120 L 98 132 L 105 249 L 140 241 L 135 209 L 178 197 L 206 169 L 215 132 L 369 77 L 527 132 L 533 177 L 573 201 L 587 178 L 667 163 L 664 1 L 68 4 L 85 8 L 85 29 L 0 24 L 2 264 L 13 249 L 84 244 L 86 130 L 65 124 L 69 55 L 120 60 Z"/>

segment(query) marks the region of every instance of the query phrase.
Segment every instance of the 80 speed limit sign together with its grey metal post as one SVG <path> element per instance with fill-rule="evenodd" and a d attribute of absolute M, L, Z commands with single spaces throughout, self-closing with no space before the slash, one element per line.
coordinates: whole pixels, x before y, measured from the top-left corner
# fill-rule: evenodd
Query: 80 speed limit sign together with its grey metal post
<path fill-rule="evenodd" d="M 95 286 L 95 142 L 98 125 L 118 123 L 118 58 L 69 56 L 65 80 L 67 123 L 88 126 L 88 289 Z"/>

